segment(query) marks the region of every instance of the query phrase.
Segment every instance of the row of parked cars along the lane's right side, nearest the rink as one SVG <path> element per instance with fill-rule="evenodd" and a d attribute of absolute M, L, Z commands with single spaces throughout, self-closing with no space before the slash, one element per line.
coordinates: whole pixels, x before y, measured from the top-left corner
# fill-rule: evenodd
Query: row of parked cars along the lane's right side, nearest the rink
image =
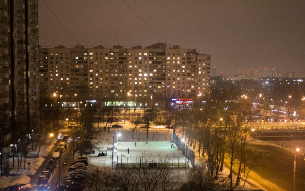
<path fill-rule="evenodd" d="M 85 179 L 89 157 L 78 157 L 71 163 L 64 182 L 60 185 L 59 191 L 81 191 L 81 182 Z"/>

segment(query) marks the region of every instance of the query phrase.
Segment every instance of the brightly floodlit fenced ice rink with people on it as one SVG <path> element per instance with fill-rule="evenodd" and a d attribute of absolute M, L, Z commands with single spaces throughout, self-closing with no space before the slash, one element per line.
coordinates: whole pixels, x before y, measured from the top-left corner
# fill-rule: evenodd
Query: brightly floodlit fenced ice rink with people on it
<path fill-rule="evenodd" d="M 189 160 L 168 141 L 119 142 L 114 146 L 116 168 L 189 167 Z"/>

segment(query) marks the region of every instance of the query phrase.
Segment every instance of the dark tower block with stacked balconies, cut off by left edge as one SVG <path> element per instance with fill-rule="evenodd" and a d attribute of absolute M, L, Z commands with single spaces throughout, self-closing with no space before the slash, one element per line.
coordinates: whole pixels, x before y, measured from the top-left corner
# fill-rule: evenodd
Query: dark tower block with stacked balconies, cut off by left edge
<path fill-rule="evenodd" d="M 17 120 L 29 130 L 38 109 L 38 1 L 2 0 L 0 17 L 0 115 L 14 141 Z"/>

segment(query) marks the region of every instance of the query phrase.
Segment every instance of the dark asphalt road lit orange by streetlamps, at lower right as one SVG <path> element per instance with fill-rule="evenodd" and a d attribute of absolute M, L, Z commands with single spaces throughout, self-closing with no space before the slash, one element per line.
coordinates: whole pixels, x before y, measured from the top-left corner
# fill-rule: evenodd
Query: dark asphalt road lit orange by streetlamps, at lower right
<path fill-rule="evenodd" d="M 268 180 L 282 187 L 283 190 L 293 190 L 293 163 L 294 154 L 281 148 L 269 145 L 249 145 L 249 149 L 257 161 L 253 171 L 261 178 L 253 179 L 256 182 Z M 257 156 L 258 155 L 258 156 Z M 296 156 L 296 190 L 305 188 L 305 161 L 301 155 Z"/>

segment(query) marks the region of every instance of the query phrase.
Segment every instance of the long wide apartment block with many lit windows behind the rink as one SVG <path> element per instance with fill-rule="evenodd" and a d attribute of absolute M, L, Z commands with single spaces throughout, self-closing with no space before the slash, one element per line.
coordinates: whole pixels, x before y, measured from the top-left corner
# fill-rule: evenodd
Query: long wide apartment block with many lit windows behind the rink
<path fill-rule="evenodd" d="M 165 43 L 146 48 L 59 45 L 40 48 L 39 54 L 40 94 L 56 93 L 67 101 L 74 94 L 82 100 L 106 100 L 210 92 L 210 55 L 200 55 L 196 49 L 167 48 Z"/>

